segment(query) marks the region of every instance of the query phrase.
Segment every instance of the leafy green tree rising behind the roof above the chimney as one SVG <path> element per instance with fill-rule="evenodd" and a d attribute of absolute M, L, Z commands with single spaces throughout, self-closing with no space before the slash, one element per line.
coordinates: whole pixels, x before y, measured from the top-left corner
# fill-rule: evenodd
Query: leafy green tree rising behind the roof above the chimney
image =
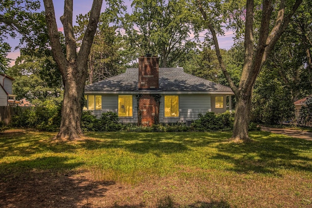
<path fill-rule="evenodd" d="M 192 13 L 185 0 L 134 0 L 132 14 L 120 18 L 137 56 L 159 56 L 159 67 L 176 67 L 195 48 Z M 137 58 L 137 57 L 134 57 Z"/>

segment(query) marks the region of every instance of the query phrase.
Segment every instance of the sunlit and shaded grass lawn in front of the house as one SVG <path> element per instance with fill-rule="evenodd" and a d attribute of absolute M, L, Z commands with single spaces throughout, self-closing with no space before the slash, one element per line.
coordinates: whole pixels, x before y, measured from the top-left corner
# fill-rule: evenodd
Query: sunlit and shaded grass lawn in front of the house
<path fill-rule="evenodd" d="M 269 132 L 250 132 L 246 144 L 229 142 L 231 132 L 89 132 L 66 143 L 53 135 L 1 133 L 0 181 L 84 170 L 143 187 L 146 207 L 312 207 L 312 141 Z"/>

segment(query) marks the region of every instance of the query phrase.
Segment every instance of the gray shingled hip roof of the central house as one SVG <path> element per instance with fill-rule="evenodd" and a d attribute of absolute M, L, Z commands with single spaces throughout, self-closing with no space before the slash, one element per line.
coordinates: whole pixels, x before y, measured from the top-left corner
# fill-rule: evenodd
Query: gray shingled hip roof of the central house
<path fill-rule="evenodd" d="M 233 94 L 231 88 L 183 72 L 183 68 L 159 68 L 159 91 L 205 92 Z M 85 86 L 85 92 L 141 92 L 138 91 L 138 69 Z"/>

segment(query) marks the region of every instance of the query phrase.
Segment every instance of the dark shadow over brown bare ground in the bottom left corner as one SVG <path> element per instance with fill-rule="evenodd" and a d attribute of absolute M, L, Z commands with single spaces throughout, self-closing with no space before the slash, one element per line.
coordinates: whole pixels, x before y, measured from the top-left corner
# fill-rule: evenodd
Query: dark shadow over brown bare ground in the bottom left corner
<path fill-rule="evenodd" d="M 89 207 L 88 198 L 102 198 L 113 181 L 94 181 L 83 172 L 29 171 L 0 180 L 0 207 Z"/>

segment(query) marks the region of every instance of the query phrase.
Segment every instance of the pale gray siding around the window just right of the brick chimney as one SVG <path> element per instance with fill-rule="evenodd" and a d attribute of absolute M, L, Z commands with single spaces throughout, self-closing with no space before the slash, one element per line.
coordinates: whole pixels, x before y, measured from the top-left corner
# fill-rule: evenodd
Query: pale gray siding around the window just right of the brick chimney
<path fill-rule="evenodd" d="M 205 114 L 211 111 L 210 95 L 186 94 L 179 95 L 179 117 L 164 117 L 164 97 L 161 97 L 159 108 L 160 123 L 186 122 L 196 120 L 198 113 Z"/>

